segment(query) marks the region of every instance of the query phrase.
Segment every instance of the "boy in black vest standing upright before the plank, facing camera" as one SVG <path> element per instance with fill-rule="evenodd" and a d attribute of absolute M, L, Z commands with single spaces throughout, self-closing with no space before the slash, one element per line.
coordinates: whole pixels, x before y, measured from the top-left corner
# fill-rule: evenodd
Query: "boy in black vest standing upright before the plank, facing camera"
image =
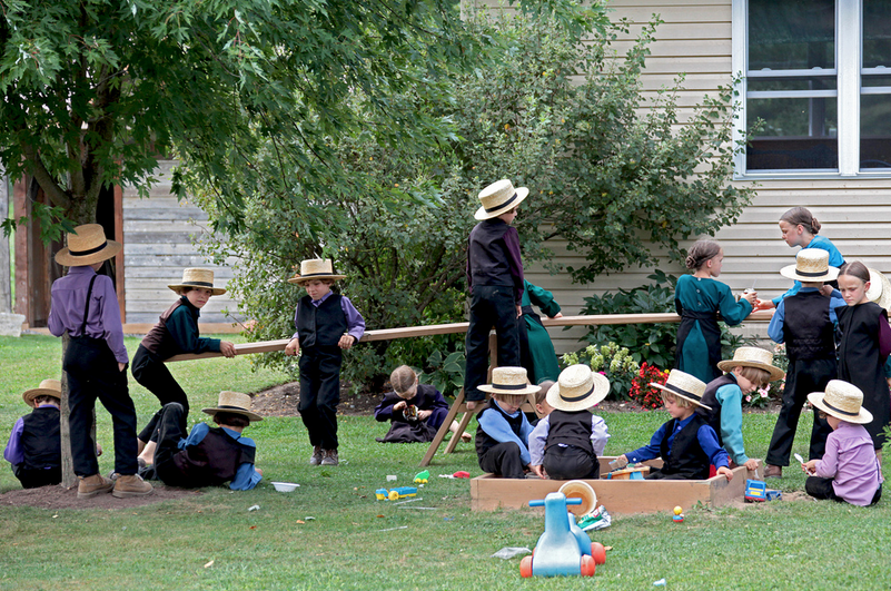
<path fill-rule="evenodd" d="M 285 347 L 285 355 L 300 355 L 300 404 L 297 410 L 313 445 L 310 465 L 334 465 L 337 455 L 337 405 L 340 403 L 343 349 L 358 343 L 365 334 L 365 319 L 348 297 L 334 294 L 336 275 L 329 258 L 300 263 L 300 274 L 288 279 L 306 289 L 297 303 L 294 325 L 297 332 Z"/>

